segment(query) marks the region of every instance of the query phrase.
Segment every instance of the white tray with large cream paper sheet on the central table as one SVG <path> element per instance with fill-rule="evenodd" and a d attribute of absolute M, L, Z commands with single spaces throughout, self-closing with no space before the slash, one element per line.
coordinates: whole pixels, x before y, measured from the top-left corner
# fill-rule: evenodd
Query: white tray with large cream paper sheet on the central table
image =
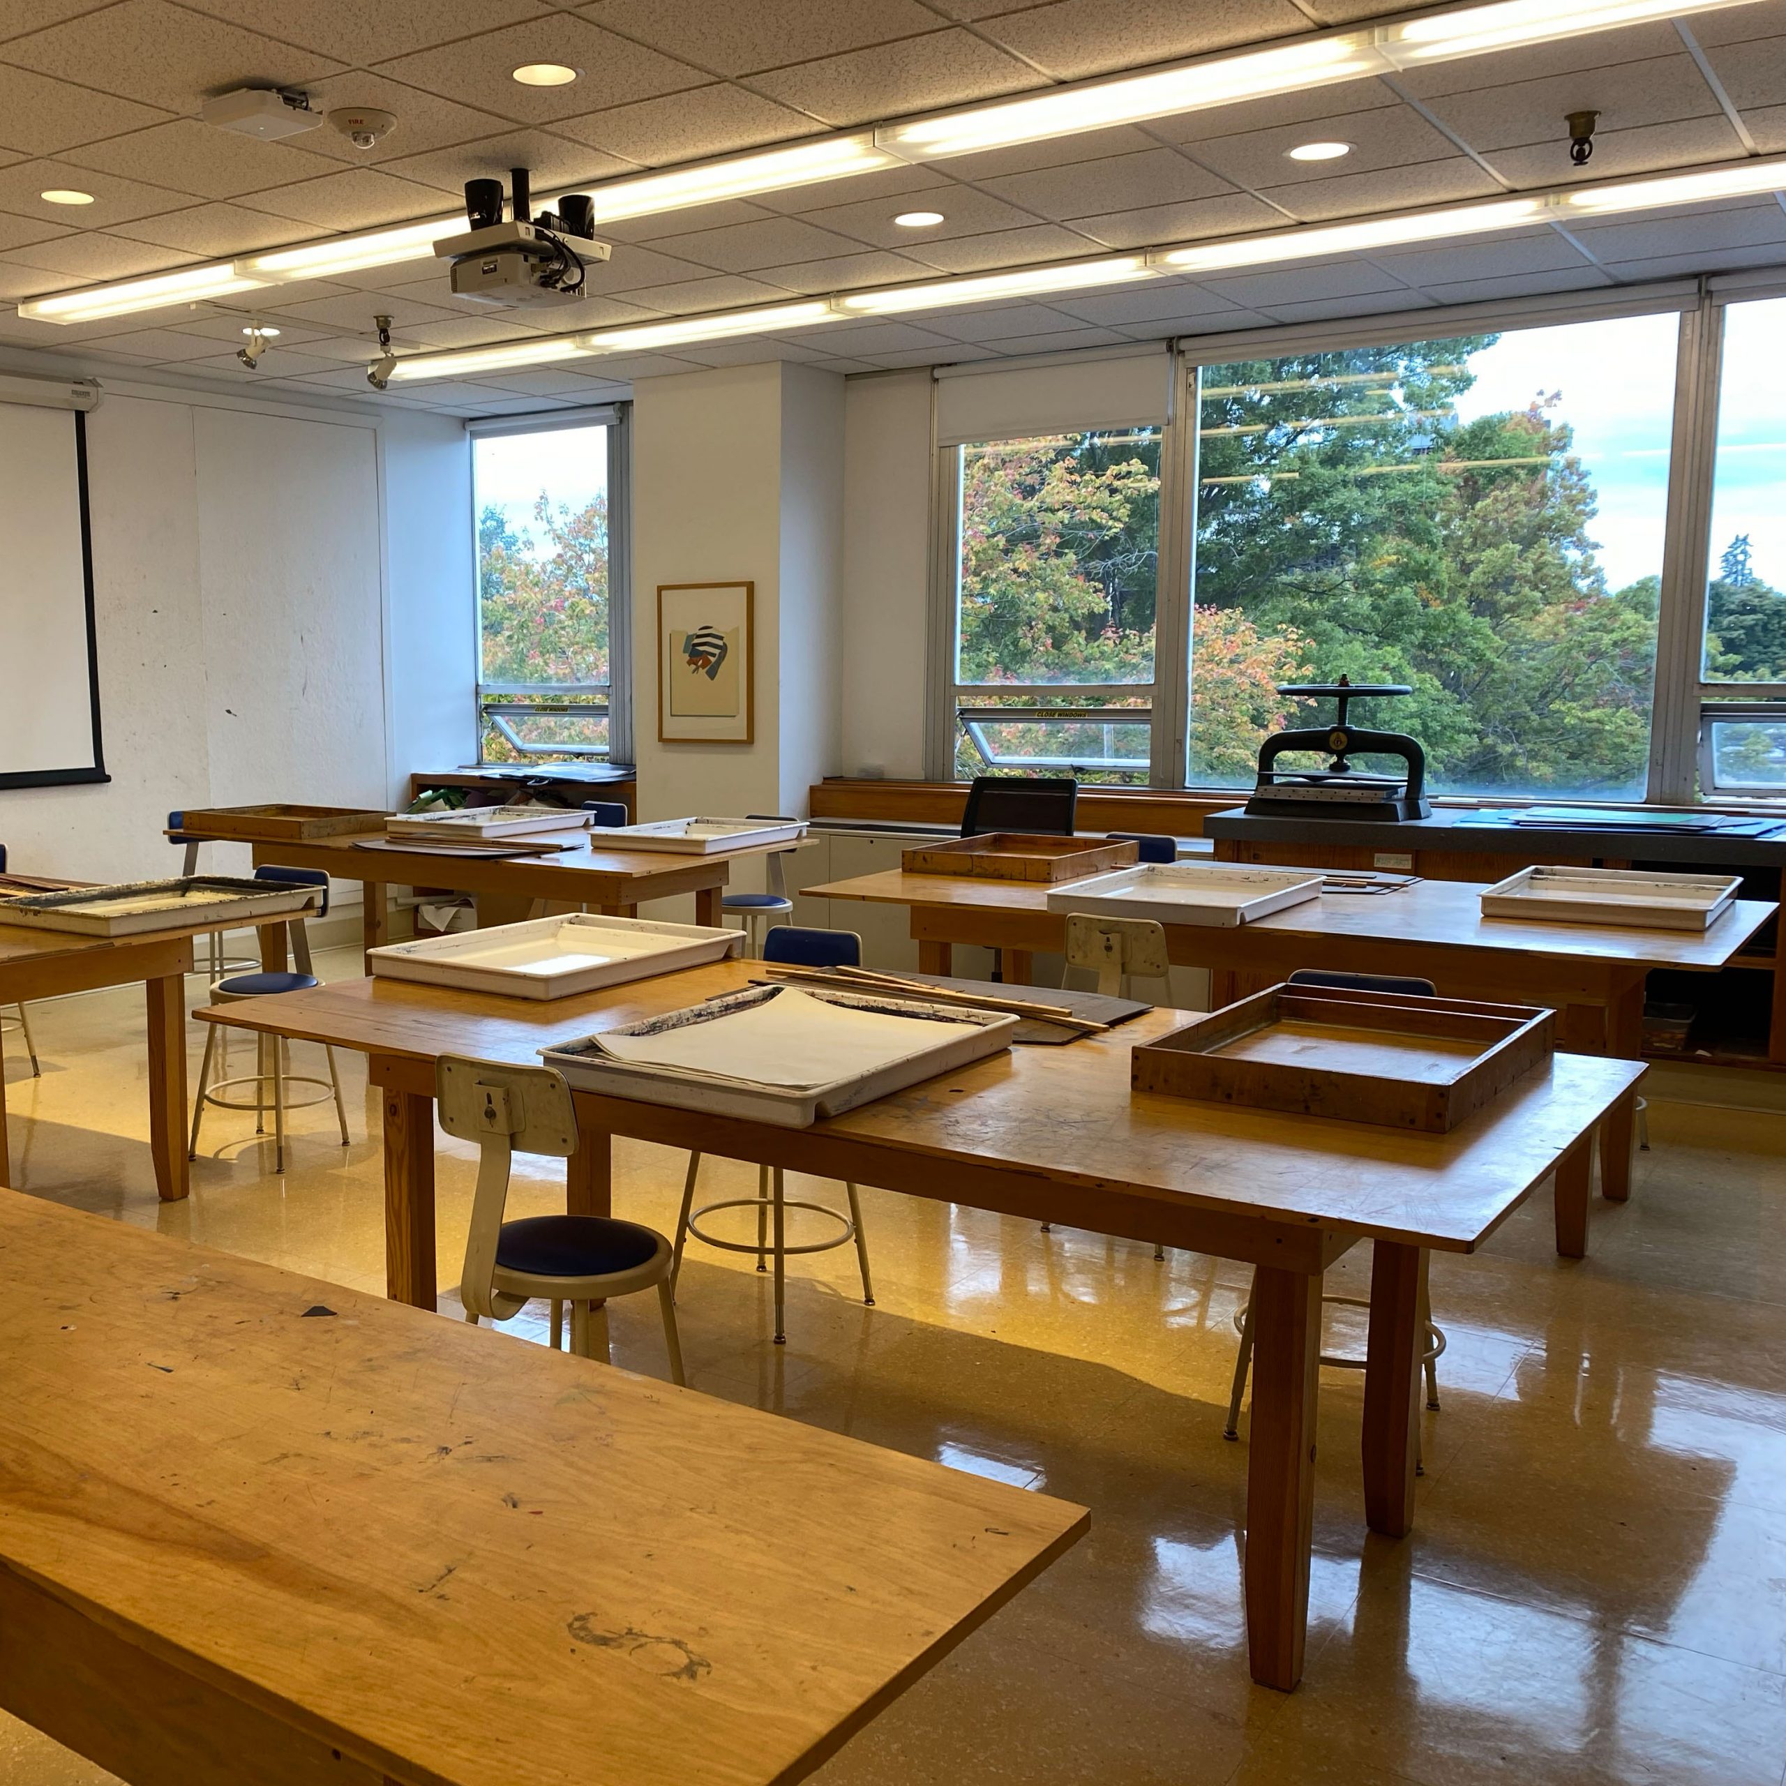
<path fill-rule="evenodd" d="M 843 1011 L 873 1013 L 879 1018 L 897 1018 L 911 1023 L 909 1052 L 875 1061 L 823 1084 L 764 1084 L 748 1077 L 754 1061 L 764 1057 L 761 1032 L 747 1018 L 761 1013 L 777 998 L 793 995 L 800 1006 L 836 1006 Z M 639 1104 L 670 1104 L 677 1109 L 700 1111 L 713 1116 L 743 1116 L 750 1122 L 768 1122 L 784 1129 L 805 1129 L 820 1116 L 836 1116 L 872 1104 L 906 1086 L 914 1086 L 938 1073 L 950 1073 L 970 1061 L 1000 1054 L 1011 1047 L 1016 1018 L 1000 1011 L 973 1011 L 964 1006 L 927 1006 L 898 998 L 877 998 L 872 993 L 807 991 L 791 986 L 755 986 L 750 991 L 727 993 L 684 1011 L 627 1023 L 613 1031 L 613 1038 L 663 1036 L 668 1031 L 693 1023 L 727 1025 L 736 1031 L 736 1070 L 695 1072 L 680 1066 L 618 1061 L 604 1052 L 600 1036 L 559 1043 L 539 1054 L 582 1091 L 598 1091 L 614 1098 L 634 1098 Z M 820 1045 L 823 1031 L 813 1031 Z M 713 1039 L 713 1038 L 709 1038 Z M 729 1048 L 716 1050 L 720 1057 Z M 698 1145 L 698 1139 L 697 1143 Z"/>

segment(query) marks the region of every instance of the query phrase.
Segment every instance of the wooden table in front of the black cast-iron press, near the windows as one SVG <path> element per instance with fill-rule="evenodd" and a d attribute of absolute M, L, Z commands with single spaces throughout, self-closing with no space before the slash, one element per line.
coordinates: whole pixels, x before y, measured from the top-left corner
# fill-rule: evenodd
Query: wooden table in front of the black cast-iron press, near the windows
<path fill-rule="evenodd" d="M 895 870 L 805 891 L 909 906 L 920 966 L 929 973 L 948 973 L 956 943 L 977 943 L 1007 950 L 1006 977 L 1027 981 L 1031 954 L 1059 952 L 1066 941 L 1066 918 L 1048 911 L 1048 888 Z M 1459 998 L 1552 1006 L 1565 1047 L 1636 1059 L 1645 975 L 1652 968 L 1715 972 L 1777 911 L 1763 900 L 1738 900 L 1709 931 L 1691 934 L 1484 918 L 1481 893 L 1473 880 L 1422 880 L 1382 895 L 1323 893 L 1238 929 L 1168 923 L 1166 948 L 1181 966 L 1213 973 L 1211 1006 L 1297 968 L 1413 973 Z"/>

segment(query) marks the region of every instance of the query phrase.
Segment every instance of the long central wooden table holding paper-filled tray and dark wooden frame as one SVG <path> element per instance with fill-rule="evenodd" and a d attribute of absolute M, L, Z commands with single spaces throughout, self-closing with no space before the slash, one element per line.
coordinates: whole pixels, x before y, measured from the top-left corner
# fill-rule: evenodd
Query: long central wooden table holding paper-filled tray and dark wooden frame
<path fill-rule="evenodd" d="M 386 1268 L 393 1297 L 434 1304 L 434 1063 L 536 1061 L 548 1041 L 748 984 L 720 963 L 584 998 L 532 1002 L 400 981 L 345 981 L 200 1011 L 370 1056 L 384 1095 Z M 1472 1252 L 1556 1173 L 1557 1245 L 1586 1231 L 1593 1134 L 1629 1134 L 1643 1066 L 1559 1054 L 1445 1136 L 1131 1095 L 1132 1043 L 1186 1020 L 1152 1011 L 1106 1038 L 1014 1048 L 811 1129 L 779 1129 L 577 1093 L 568 1207 L 605 1214 L 613 1136 L 882 1186 L 1000 1214 L 1245 1259 L 1254 1277 L 1247 1623 L 1254 1679 L 1302 1675 L 1314 1506 L 1322 1273 L 1375 1239 L 1365 1372 L 1365 1500 L 1373 1531 L 1413 1522 L 1425 1250 Z"/>

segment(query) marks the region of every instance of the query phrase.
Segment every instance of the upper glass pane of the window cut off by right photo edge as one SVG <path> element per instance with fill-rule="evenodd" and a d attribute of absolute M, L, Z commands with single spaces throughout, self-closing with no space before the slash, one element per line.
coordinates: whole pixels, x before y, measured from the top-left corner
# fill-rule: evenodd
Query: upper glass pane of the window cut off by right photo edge
<path fill-rule="evenodd" d="M 1786 298 L 1725 311 L 1706 589 L 1707 682 L 1786 682 L 1782 339 Z"/>

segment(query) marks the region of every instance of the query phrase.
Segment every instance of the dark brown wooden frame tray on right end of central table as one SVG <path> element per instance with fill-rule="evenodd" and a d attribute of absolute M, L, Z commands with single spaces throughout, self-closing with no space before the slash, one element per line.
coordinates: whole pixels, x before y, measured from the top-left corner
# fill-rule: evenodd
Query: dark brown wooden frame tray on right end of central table
<path fill-rule="evenodd" d="M 1134 1091 L 1445 1134 L 1556 1048 L 1556 1013 L 1272 986 L 1131 1054 Z"/>

